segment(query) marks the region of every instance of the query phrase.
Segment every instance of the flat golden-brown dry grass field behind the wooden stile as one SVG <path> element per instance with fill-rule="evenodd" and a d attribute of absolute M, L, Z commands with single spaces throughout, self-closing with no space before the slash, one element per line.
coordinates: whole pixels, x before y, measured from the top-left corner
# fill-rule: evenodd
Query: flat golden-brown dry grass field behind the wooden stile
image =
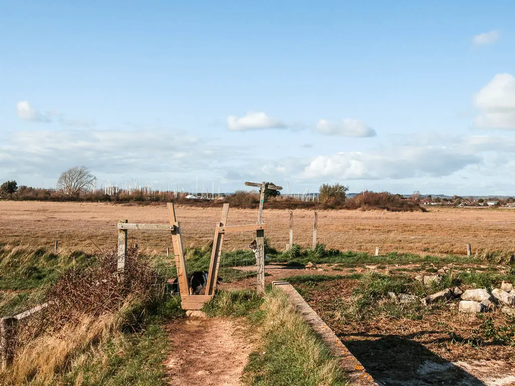
<path fill-rule="evenodd" d="M 178 206 L 184 246 L 212 241 L 221 208 Z M 115 245 L 118 219 L 129 222 L 167 223 L 165 205 L 140 206 L 110 203 L 61 203 L 0 201 L 0 243 L 53 246 L 90 251 Z M 266 237 L 280 250 L 288 241 L 288 210 L 267 210 Z M 256 221 L 256 210 L 230 209 L 229 224 Z M 294 242 L 309 247 L 312 242 L 313 211 L 295 210 Z M 427 213 L 328 210 L 318 214 L 318 241 L 343 251 L 381 253 L 398 251 L 421 254 L 464 254 L 466 243 L 474 251 L 515 251 L 515 210 L 491 208 L 430 208 Z M 147 253 L 163 253 L 170 246 L 163 232 L 129 232 Z M 241 249 L 252 234 L 230 234 L 227 249 Z"/>

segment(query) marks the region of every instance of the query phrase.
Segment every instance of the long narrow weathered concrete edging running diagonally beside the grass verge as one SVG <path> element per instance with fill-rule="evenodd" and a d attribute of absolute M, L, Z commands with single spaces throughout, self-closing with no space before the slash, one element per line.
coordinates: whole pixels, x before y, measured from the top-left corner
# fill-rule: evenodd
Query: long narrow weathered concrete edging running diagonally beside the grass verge
<path fill-rule="evenodd" d="M 377 386 L 372 376 L 365 371 L 363 365 L 353 356 L 347 347 L 341 343 L 334 331 L 319 317 L 319 315 L 306 303 L 304 298 L 288 282 L 272 282 L 272 288 L 283 291 L 302 315 L 304 321 L 322 338 L 334 356 L 340 359 L 340 367 L 344 370 L 353 384 L 359 386 Z"/>

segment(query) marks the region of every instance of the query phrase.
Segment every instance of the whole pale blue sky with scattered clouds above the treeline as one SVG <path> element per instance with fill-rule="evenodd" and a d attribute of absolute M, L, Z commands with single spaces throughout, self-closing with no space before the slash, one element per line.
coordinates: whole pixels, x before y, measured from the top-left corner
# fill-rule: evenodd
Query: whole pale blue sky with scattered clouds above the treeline
<path fill-rule="evenodd" d="M 0 181 L 515 195 L 515 3 L 424 3 L 3 2 Z"/>

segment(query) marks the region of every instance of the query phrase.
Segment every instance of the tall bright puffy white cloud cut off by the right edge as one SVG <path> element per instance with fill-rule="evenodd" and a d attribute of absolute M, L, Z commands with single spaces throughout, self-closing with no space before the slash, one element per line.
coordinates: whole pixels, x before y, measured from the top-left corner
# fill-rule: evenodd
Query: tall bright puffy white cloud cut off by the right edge
<path fill-rule="evenodd" d="M 474 97 L 475 106 L 482 111 L 476 125 L 482 128 L 515 130 L 515 78 L 497 74 Z"/>

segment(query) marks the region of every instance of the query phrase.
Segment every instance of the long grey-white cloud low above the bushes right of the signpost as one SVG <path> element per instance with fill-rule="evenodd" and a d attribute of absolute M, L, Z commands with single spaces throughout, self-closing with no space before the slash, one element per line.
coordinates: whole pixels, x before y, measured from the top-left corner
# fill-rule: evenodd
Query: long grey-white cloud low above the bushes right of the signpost
<path fill-rule="evenodd" d="M 338 180 L 404 179 L 448 176 L 482 162 L 475 154 L 437 146 L 405 146 L 366 153 L 340 152 L 319 155 L 304 169 L 307 178 L 324 176 Z"/>

